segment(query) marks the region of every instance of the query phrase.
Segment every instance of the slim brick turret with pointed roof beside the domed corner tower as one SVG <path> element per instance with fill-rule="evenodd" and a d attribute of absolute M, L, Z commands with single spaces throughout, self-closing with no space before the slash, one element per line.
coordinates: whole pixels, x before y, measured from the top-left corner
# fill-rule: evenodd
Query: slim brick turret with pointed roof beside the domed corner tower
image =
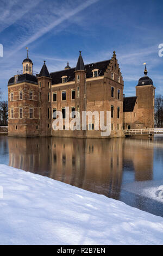
<path fill-rule="evenodd" d="M 51 136 L 52 131 L 52 110 L 51 110 L 51 96 L 52 96 L 52 78 L 49 75 L 47 66 L 44 64 L 37 77 L 38 81 L 38 124 L 39 136 Z"/>

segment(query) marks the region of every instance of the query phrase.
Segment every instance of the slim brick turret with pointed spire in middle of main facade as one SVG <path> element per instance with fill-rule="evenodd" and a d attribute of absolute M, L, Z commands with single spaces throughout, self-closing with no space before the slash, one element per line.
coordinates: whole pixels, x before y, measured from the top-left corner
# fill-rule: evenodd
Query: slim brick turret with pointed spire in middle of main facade
<path fill-rule="evenodd" d="M 82 112 L 86 111 L 86 70 L 82 58 L 82 52 L 79 51 L 79 58 L 76 66 L 75 72 L 75 85 L 76 85 L 76 111 L 80 113 L 80 120 L 82 120 Z M 82 131 L 82 122 L 80 127 L 81 136 L 86 135 L 86 131 Z M 79 134 L 79 131 L 78 131 Z"/>

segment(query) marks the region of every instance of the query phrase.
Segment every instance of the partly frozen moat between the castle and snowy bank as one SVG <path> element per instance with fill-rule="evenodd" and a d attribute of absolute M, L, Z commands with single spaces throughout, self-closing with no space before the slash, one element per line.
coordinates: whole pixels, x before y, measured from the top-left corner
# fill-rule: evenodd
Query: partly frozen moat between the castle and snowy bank
<path fill-rule="evenodd" d="M 0 163 L 163 217 L 163 199 L 158 196 L 163 185 L 162 136 L 152 141 L 0 136 Z"/>

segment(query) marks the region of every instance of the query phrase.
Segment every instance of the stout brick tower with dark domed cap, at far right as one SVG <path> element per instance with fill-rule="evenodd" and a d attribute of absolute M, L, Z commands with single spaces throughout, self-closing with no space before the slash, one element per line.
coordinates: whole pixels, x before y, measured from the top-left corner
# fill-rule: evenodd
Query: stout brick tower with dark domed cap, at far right
<path fill-rule="evenodd" d="M 154 96 L 155 87 L 153 81 L 147 76 L 147 68 L 145 65 L 145 76 L 139 79 L 136 86 L 137 97 L 137 120 L 141 122 L 144 128 L 154 127 Z"/>

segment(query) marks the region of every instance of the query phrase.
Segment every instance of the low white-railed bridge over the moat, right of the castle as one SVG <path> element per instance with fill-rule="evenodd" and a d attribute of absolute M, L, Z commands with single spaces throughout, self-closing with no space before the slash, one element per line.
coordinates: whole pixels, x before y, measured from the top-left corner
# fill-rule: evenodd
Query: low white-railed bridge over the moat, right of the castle
<path fill-rule="evenodd" d="M 163 128 L 131 129 L 123 130 L 125 135 L 149 135 L 163 134 Z"/>

